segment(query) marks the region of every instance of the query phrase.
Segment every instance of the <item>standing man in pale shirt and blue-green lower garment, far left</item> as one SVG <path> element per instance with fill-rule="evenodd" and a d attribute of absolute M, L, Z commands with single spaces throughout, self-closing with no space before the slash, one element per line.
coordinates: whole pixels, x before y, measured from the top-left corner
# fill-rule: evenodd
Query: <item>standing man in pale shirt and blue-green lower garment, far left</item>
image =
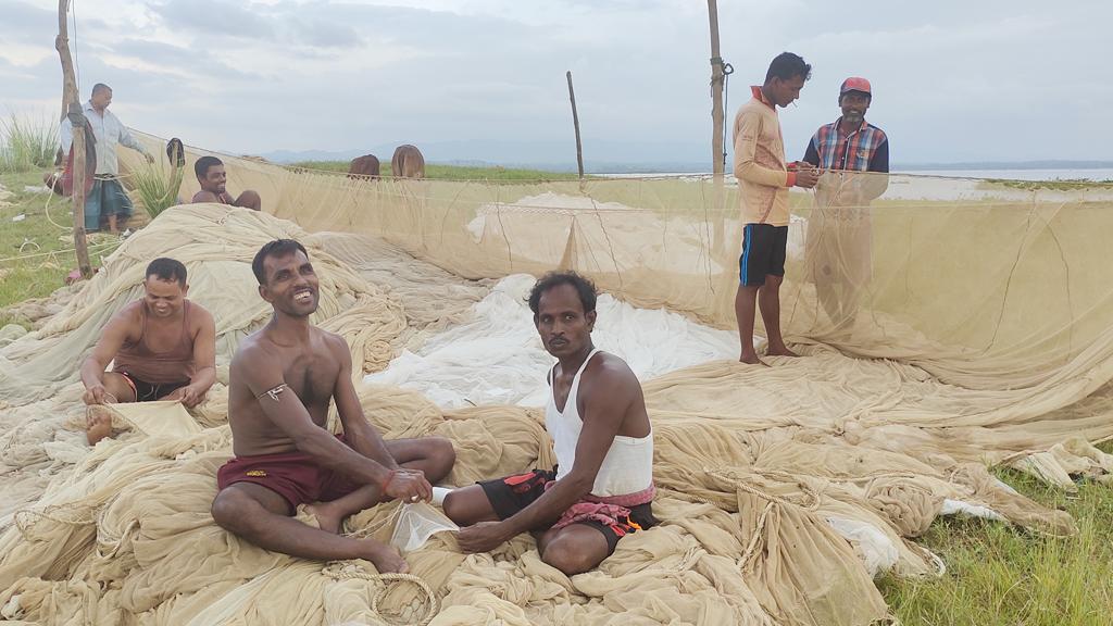
<path fill-rule="evenodd" d="M 82 111 L 92 128 L 97 151 L 97 172 L 92 188 L 85 199 L 85 229 L 88 232 L 99 231 L 104 217 L 108 229 L 118 233 L 120 224 L 131 217 L 131 199 L 124 193 L 119 180 L 120 164 L 116 157 L 116 146 L 122 144 L 141 153 L 147 157 L 147 163 L 155 162 L 155 157 L 131 136 L 120 118 L 108 110 L 110 104 L 112 89 L 98 82 L 92 86 L 92 96 Z M 60 137 L 62 153 L 67 154 L 73 143 L 73 127 L 69 118 L 61 123 Z"/>

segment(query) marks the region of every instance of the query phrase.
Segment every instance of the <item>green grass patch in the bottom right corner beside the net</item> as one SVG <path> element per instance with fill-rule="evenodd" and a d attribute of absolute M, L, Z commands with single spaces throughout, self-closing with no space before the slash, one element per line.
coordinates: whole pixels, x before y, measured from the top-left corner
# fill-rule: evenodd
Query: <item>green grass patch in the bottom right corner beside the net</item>
<path fill-rule="evenodd" d="M 1054 538 L 999 522 L 943 518 L 919 542 L 943 558 L 947 573 L 879 580 L 894 614 L 904 624 L 925 626 L 1113 624 L 1113 487 L 1089 482 L 1068 496 L 1026 475 L 995 471 L 1025 496 L 1066 510 L 1078 534 Z"/>

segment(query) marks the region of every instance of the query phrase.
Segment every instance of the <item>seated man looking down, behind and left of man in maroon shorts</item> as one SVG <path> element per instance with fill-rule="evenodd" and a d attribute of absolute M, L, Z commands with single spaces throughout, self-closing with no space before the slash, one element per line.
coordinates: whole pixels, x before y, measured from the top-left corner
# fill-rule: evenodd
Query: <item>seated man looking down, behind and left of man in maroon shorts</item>
<path fill-rule="evenodd" d="M 216 381 L 216 324 L 186 300 L 186 266 L 156 258 L 147 266 L 144 299 L 121 309 L 81 364 L 86 404 L 178 400 L 193 408 Z M 105 371 L 115 361 L 111 371 Z M 89 443 L 111 433 L 106 413 L 90 411 Z"/>

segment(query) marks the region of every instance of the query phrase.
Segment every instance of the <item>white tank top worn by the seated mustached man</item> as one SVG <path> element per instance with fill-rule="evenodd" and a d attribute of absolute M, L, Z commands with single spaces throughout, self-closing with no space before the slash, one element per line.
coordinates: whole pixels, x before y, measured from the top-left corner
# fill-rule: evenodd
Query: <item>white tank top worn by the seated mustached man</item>
<path fill-rule="evenodd" d="M 575 446 L 580 441 L 583 420 L 580 418 L 577 397 L 580 391 L 580 375 L 599 352 L 594 349 L 583 360 L 580 370 L 572 379 L 572 389 L 568 392 L 564 412 L 556 410 L 556 395 L 553 390 L 553 370 L 549 370 L 549 405 L 545 407 L 545 429 L 553 438 L 553 450 L 556 453 L 556 480 L 568 476 L 575 464 Z M 646 437 L 614 436 L 611 449 L 607 451 L 603 463 L 595 475 L 595 483 L 591 488 L 592 496 L 626 496 L 637 493 L 653 483 L 653 432 Z"/>

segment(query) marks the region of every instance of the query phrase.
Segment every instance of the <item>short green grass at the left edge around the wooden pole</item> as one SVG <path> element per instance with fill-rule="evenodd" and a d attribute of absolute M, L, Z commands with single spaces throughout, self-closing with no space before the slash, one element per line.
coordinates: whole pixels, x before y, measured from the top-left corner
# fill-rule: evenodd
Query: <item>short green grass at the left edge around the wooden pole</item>
<path fill-rule="evenodd" d="M 10 205 L 0 206 L 0 326 L 9 323 L 28 325 L 26 320 L 14 317 L 4 309 L 50 295 L 65 285 L 66 275 L 77 267 L 77 257 L 71 252 L 73 217 L 70 200 L 23 190 L 28 185 L 41 186 L 42 173 L 0 174 L 0 184 L 13 194 L 0 200 Z M 12 217 L 18 215 L 26 217 L 12 222 Z M 99 266 L 101 258 L 118 245 L 118 238 L 90 235 L 89 257 L 93 266 Z"/>

